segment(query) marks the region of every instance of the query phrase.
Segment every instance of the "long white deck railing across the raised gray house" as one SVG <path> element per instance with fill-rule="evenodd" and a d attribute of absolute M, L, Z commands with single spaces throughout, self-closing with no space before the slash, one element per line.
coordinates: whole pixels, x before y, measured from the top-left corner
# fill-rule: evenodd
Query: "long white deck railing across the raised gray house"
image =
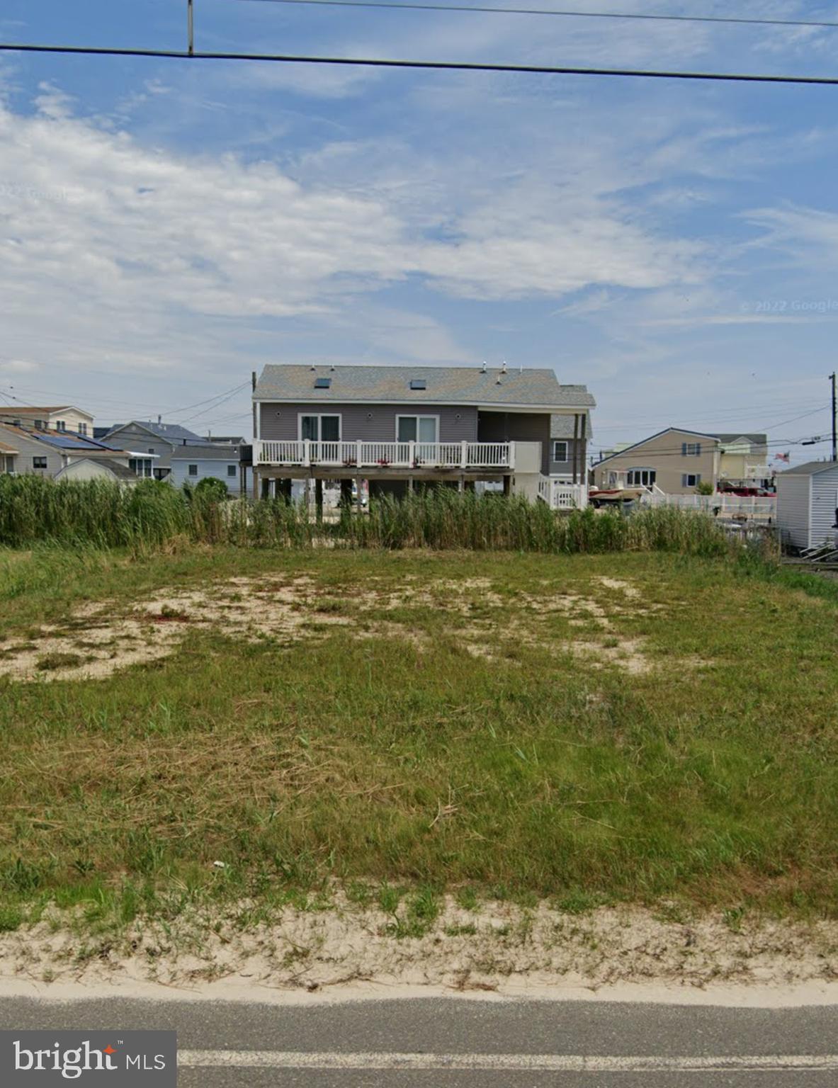
<path fill-rule="evenodd" d="M 303 468 L 514 469 L 514 442 L 254 443 L 255 465 Z"/>

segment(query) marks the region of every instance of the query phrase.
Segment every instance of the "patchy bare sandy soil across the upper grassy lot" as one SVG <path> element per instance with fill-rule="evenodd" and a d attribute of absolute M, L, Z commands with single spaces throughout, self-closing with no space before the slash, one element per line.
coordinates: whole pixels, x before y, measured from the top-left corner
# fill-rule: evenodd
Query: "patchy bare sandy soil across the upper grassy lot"
<path fill-rule="evenodd" d="M 168 589 L 127 606 L 94 602 L 63 622 L 44 623 L 25 636 L 0 641 L 0 676 L 27 682 L 100 679 L 165 657 L 190 630 L 201 629 L 289 645 L 322 639 L 336 626 L 359 639 L 403 638 L 424 648 L 428 636 L 409 622 L 381 619 L 382 611 L 405 607 L 456 617 L 464 648 L 478 657 L 502 659 L 510 648 L 529 645 L 581 655 L 593 668 L 638 675 L 654 667 L 644 641 L 621 636 L 615 621 L 629 614 L 649 615 L 661 606 L 639 599 L 638 588 L 626 581 L 599 579 L 606 591 L 602 596 L 595 591 L 591 594 L 590 589 L 544 589 L 513 598 L 503 597 L 483 578 L 431 583 L 406 579 L 398 589 L 379 586 L 377 581 L 370 579 L 362 593 L 350 597 L 348 607 L 337 591 L 323 590 L 306 576 L 233 578 L 197 591 Z M 378 619 L 370 616 L 373 611 Z M 547 630 L 554 616 L 566 618 L 571 627 L 594 626 L 602 631 L 602 640 L 584 638 L 581 631 L 578 640 L 563 640 Z"/>

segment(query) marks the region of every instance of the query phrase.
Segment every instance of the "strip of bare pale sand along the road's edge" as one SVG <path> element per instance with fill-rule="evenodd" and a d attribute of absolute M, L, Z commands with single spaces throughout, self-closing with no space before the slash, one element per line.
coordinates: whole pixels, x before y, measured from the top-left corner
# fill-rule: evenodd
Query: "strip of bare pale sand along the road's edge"
<path fill-rule="evenodd" d="M 236 911 L 136 922 L 118 938 L 78 937 L 61 915 L 0 938 L 0 982 L 29 979 L 101 986 L 124 981 L 194 987 L 237 979 L 252 988 L 308 990 L 359 980 L 461 991 L 719 982 L 800 986 L 838 980 L 838 923 L 743 920 L 720 915 L 665 920 L 633 906 L 574 915 L 546 903 L 492 902 L 465 911 L 446 899 L 421 937 L 341 895 L 333 908 L 285 907 L 241 928 Z"/>

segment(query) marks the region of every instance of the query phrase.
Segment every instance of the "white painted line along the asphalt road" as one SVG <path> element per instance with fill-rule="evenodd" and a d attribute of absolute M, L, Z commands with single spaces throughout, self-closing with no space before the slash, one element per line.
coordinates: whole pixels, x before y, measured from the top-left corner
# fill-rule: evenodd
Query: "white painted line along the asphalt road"
<path fill-rule="evenodd" d="M 665 1073 L 690 1070 L 836 1070 L 838 1054 L 422 1054 L 293 1050 L 182 1050 L 182 1068 L 506 1070 L 549 1073 Z"/>

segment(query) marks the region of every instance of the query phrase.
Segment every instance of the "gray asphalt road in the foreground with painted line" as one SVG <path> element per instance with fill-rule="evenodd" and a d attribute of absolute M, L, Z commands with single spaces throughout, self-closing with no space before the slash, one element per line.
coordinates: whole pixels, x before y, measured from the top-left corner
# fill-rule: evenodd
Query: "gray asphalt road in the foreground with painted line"
<path fill-rule="evenodd" d="M 0 999 L 0 1028 L 176 1028 L 182 1088 L 835 1088 L 838 1005 Z"/>

